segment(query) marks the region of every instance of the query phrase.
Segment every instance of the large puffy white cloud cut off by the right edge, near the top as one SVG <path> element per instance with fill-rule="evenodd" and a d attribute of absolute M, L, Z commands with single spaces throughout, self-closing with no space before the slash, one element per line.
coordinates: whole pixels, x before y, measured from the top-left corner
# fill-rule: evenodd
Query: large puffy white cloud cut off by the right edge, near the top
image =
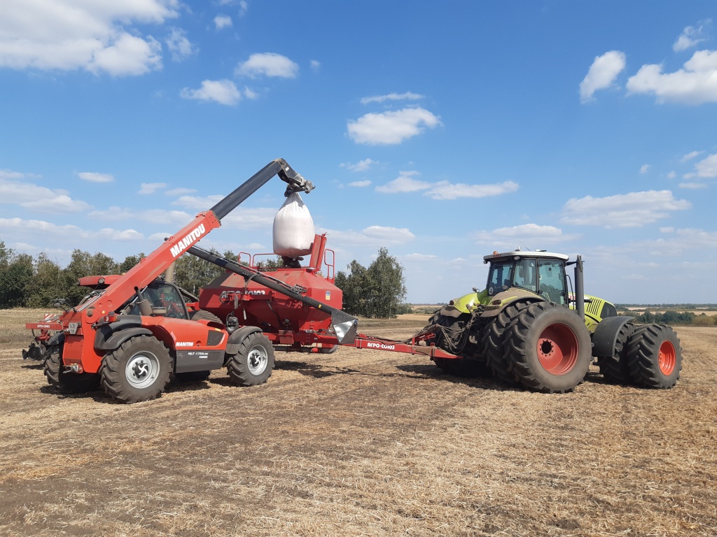
<path fill-rule="evenodd" d="M 643 65 L 626 87 L 629 94 L 652 93 L 660 103 L 717 102 L 717 51 L 698 50 L 683 69 L 673 73 L 663 73 L 662 65 Z"/>

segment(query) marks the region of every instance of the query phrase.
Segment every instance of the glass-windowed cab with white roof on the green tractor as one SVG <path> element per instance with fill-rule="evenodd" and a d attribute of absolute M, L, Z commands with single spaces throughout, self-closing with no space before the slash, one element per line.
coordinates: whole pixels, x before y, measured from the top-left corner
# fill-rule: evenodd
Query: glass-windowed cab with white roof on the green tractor
<path fill-rule="evenodd" d="M 549 302 L 567 305 L 566 261 L 568 256 L 563 253 L 493 252 L 483 257 L 484 263 L 490 263 L 485 289 L 488 296 L 495 296 L 517 287 L 542 296 Z"/>

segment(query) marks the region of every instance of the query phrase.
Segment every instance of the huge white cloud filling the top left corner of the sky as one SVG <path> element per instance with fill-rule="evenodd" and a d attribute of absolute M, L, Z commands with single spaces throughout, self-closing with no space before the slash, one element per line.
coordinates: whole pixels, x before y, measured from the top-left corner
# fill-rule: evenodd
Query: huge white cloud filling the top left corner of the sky
<path fill-rule="evenodd" d="M 161 45 L 138 25 L 178 16 L 178 0 L 5 0 L 0 67 L 86 69 L 115 76 L 161 68 Z"/>

